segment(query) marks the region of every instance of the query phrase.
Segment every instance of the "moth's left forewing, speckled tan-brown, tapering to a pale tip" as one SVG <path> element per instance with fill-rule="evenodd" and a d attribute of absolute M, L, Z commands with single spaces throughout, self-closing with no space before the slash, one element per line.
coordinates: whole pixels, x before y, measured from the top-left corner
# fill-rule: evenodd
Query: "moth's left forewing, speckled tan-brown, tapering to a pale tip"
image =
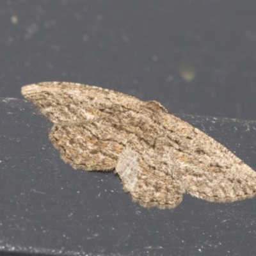
<path fill-rule="evenodd" d="M 29 84 L 22 87 L 21 93 L 54 123 L 85 122 L 143 104 L 123 93 L 68 82 Z"/>

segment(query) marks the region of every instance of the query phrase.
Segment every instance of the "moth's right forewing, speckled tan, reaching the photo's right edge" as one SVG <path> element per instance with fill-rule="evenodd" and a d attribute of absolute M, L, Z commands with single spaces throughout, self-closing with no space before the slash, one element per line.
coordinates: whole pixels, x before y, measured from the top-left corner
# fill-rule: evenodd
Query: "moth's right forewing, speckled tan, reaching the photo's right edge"
<path fill-rule="evenodd" d="M 256 172 L 230 150 L 192 125 L 165 115 L 170 150 L 192 196 L 210 202 L 232 202 L 256 195 Z M 175 128 L 173 127 L 175 124 Z M 176 129 L 179 132 L 170 132 Z M 175 150 L 172 150 L 175 148 Z"/>

